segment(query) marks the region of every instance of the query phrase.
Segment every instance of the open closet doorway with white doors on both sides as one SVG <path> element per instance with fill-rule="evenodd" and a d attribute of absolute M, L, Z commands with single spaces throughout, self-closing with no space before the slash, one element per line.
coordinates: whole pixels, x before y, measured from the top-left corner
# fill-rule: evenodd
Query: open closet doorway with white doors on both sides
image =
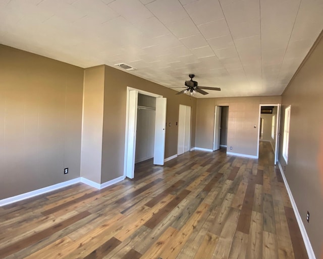
<path fill-rule="evenodd" d="M 139 97 L 139 99 L 138 99 Z M 127 87 L 127 110 L 126 110 L 126 136 L 125 136 L 125 160 L 124 160 L 124 176 L 128 178 L 134 178 L 135 161 L 145 159 L 149 154 L 152 154 L 152 141 L 149 141 L 149 145 L 145 146 L 145 143 L 138 145 L 145 146 L 141 149 L 140 156 L 136 158 L 136 139 L 137 139 L 137 122 L 138 122 L 138 108 L 139 108 L 139 123 L 146 121 L 150 124 L 149 130 L 151 139 L 153 136 L 153 164 L 164 165 L 165 154 L 165 125 L 166 125 L 166 98 L 161 95 L 156 95 L 139 89 Z M 144 105 L 139 105 L 139 104 Z M 141 110 L 150 110 L 150 121 L 144 119 L 142 113 L 148 114 L 148 112 L 141 112 Z M 151 132 L 152 117 L 154 114 L 154 133 Z M 145 122 L 143 122 L 145 123 Z M 144 129 L 140 128 L 140 139 L 144 134 Z M 143 151 L 146 150 L 146 151 Z M 137 149 L 139 152 L 139 149 Z M 149 153 L 149 154 L 148 154 Z M 146 156 L 146 157 L 145 157 Z"/>

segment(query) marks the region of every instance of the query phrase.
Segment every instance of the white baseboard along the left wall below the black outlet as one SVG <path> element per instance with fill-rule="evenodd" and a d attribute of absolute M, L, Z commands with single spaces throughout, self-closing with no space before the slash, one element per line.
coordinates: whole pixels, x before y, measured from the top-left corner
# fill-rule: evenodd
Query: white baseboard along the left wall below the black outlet
<path fill-rule="evenodd" d="M 19 202 L 19 201 L 22 201 L 25 199 L 29 199 L 29 198 L 35 197 L 37 195 L 41 195 L 41 194 L 49 192 L 49 191 L 57 190 L 57 189 L 60 189 L 60 188 L 63 188 L 63 187 L 66 187 L 66 186 L 69 186 L 69 185 L 72 185 L 72 184 L 75 184 L 78 182 L 80 182 L 80 177 L 69 180 L 69 181 L 53 184 L 53 185 L 50 185 L 50 186 L 47 186 L 44 188 L 40 188 L 37 190 L 28 191 L 28 192 L 22 193 L 21 195 L 17 195 L 14 197 L 9 197 L 9 198 L 0 200 L 0 206 L 4 206 L 4 205 L 11 204 L 11 203 Z"/>

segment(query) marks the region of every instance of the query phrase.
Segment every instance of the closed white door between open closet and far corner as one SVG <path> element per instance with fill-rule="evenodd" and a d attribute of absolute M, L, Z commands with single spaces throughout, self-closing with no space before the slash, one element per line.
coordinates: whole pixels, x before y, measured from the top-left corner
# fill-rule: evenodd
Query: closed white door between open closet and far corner
<path fill-rule="evenodd" d="M 191 106 L 180 104 L 178 117 L 177 155 L 190 150 Z"/>

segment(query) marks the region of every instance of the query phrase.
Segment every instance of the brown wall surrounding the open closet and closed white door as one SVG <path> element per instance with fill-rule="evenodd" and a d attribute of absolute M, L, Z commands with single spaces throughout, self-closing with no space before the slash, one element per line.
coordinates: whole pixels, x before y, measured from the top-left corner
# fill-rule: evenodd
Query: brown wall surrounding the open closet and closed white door
<path fill-rule="evenodd" d="M 167 98 L 165 158 L 177 154 L 179 105 L 191 106 L 191 146 L 195 145 L 196 98 L 176 95 L 174 90 L 165 88 L 145 79 L 115 68 L 105 67 L 103 144 L 101 182 L 123 175 L 125 153 L 125 126 L 127 86 L 163 95 Z M 169 123 L 171 122 L 171 126 Z"/>

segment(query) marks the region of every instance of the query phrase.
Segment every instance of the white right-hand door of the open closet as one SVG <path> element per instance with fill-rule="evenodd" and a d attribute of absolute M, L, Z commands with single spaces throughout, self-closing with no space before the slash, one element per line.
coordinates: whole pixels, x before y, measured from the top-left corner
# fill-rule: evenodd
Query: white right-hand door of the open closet
<path fill-rule="evenodd" d="M 155 143 L 153 150 L 153 163 L 155 165 L 164 165 L 166 101 L 167 98 L 156 98 Z"/>

